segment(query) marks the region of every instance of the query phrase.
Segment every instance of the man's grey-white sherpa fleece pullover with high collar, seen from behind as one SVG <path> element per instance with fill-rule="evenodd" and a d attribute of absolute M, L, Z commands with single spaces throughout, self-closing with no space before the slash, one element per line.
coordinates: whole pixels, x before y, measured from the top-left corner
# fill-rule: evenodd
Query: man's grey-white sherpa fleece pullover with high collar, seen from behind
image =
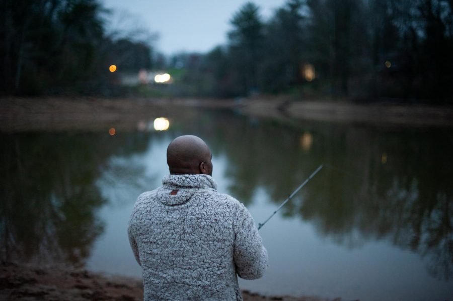
<path fill-rule="evenodd" d="M 169 175 L 162 182 L 138 196 L 129 220 L 144 299 L 242 300 L 237 274 L 259 278 L 268 260 L 248 210 L 218 193 L 209 175 Z"/>

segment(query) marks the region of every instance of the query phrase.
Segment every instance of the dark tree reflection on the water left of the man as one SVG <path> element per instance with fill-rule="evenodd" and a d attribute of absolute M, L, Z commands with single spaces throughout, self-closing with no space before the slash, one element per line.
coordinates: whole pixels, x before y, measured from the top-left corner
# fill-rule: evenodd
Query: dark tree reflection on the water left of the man
<path fill-rule="evenodd" d="M 103 232 L 96 180 L 108 158 L 141 139 L 95 134 L 0 134 L 2 260 L 82 265 Z M 120 138 L 120 137 L 118 137 Z"/>

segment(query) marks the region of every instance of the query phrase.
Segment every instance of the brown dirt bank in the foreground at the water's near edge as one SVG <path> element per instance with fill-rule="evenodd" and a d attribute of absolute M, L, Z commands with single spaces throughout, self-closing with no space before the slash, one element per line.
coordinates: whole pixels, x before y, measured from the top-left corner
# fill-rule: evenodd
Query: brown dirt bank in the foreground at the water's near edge
<path fill-rule="evenodd" d="M 328 301 L 316 297 L 265 297 L 243 291 L 244 300 Z M 0 300 L 142 300 L 140 279 L 68 267 L 0 264 Z M 336 299 L 339 301 L 340 299 Z"/>

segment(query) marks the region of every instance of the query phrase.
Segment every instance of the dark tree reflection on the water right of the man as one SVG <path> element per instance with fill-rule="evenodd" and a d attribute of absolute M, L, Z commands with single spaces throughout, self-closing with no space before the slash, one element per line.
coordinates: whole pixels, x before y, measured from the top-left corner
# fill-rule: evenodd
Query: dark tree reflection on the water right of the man
<path fill-rule="evenodd" d="M 197 131 L 228 158 L 230 192 L 241 202 L 250 204 L 263 188 L 277 206 L 324 163 L 282 208 L 284 216 L 310 221 L 350 248 L 390 240 L 423 256 L 436 278 L 451 277 L 453 137 L 446 130 L 212 118 L 213 129 Z"/>

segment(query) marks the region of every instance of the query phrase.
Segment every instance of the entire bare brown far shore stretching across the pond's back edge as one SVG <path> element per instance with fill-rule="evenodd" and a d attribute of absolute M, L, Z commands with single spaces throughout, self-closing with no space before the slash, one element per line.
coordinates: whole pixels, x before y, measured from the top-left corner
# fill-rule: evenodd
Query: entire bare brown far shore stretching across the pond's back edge
<path fill-rule="evenodd" d="M 234 109 L 244 115 L 276 120 L 311 120 L 374 126 L 452 127 L 453 107 L 348 101 L 288 101 L 284 98 L 103 98 L 2 97 L 0 131 L 96 130 L 111 124 L 127 130 L 137 120 L 184 114 L 181 109 Z"/>

